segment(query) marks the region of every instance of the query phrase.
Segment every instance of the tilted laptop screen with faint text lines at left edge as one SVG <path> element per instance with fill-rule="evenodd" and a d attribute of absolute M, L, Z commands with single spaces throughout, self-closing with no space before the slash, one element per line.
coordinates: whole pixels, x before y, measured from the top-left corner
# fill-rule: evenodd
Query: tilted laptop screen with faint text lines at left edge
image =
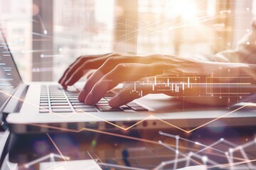
<path fill-rule="evenodd" d="M 18 69 L 9 50 L 9 45 L 6 42 L 4 33 L 0 30 L 0 108 L 9 98 L 8 94 L 14 94 L 18 84 L 20 84 L 21 77 L 18 74 Z"/>

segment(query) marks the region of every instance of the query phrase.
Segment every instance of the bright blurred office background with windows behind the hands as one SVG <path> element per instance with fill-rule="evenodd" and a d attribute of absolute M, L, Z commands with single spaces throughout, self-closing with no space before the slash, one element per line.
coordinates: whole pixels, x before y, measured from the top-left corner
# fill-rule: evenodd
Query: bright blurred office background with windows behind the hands
<path fill-rule="evenodd" d="M 0 0 L 24 81 L 56 81 L 80 55 L 232 49 L 255 14 L 255 0 Z"/>

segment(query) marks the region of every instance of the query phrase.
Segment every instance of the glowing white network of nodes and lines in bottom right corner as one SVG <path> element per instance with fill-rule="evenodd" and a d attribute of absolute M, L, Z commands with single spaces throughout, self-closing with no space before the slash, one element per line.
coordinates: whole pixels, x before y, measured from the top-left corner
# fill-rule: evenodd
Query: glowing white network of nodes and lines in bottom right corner
<path fill-rule="evenodd" d="M 166 147 L 169 149 L 171 152 L 174 152 L 176 154 L 174 160 L 170 160 L 167 162 L 161 162 L 159 166 L 157 166 L 154 170 L 160 170 L 166 165 L 173 165 L 174 169 L 178 166 L 178 164 L 185 163 L 185 167 L 191 165 L 191 158 L 197 158 L 201 160 L 200 164 L 205 165 L 205 169 L 215 169 L 215 168 L 220 168 L 220 169 L 256 169 L 256 165 L 253 164 L 256 162 L 256 156 L 253 157 L 253 159 L 249 159 L 251 156 L 250 150 L 246 150 L 248 147 L 253 147 L 256 149 L 255 144 L 256 144 L 256 139 L 246 142 L 245 144 L 242 145 L 235 145 L 235 143 L 230 142 L 228 140 L 225 140 L 224 138 L 220 138 L 220 140 L 213 142 L 211 145 L 204 145 L 203 143 L 200 142 L 194 142 L 191 140 L 184 139 L 183 137 L 180 137 L 178 135 L 171 135 L 165 132 L 159 132 L 159 135 L 164 135 L 166 137 L 171 137 L 174 140 L 176 140 L 176 147 L 170 147 L 166 145 L 164 142 L 159 141 L 159 145 L 162 145 L 163 147 Z M 199 146 L 200 149 L 198 149 L 197 152 L 188 152 L 188 153 L 182 153 L 180 152 L 179 147 L 179 141 L 180 140 L 185 140 L 186 142 L 191 142 L 195 146 Z M 222 149 L 216 149 L 215 147 L 218 145 L 225 145 L 225 150 Z M 218 152 L 220 154 L 220 157 L 223 157 L 223 159 L 226 160 L 226 164 L 223 163 L 218 163 L 213 159 L 210 159 L 207 155 L 207 153 L 202 154 L 202 152 L 206 150 L 213 150 L 215 152 Z M 240 157 L 235 157 L 235 152 L 239 152 L 241 155 Z M 250 155 L 250 156 L 249 156 Z M 179 157 L 181 156 L 181 157 Z"/>

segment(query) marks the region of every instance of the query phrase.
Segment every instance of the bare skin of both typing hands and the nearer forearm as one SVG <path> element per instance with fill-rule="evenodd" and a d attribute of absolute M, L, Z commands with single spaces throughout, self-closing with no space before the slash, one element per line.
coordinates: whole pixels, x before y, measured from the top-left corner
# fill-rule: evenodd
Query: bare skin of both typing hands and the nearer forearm
<path fill-rule="evenodd" d="M 96 70 L 92 72 L 92 70 Z M 166 55 L 150 55 L 150 56 L 121 56 L 118 54 L 94 55 L 78 57 L 70 67 L 65 70 L 63 76 L 58 81 L 64 88 L 72 86 L 85 74 L 87 81 L 82 91 L 80 91 L 78 100 L 86 104 L 93 105 L 100 101 L 100 98 L 105 95 L 107 91 L 113 89 L 117 84 L 126 82 L 126 85 L 119 91 L 116 96 L 110 99 L 109 103 L 112 107 L 119 107 L 125 103 L 139 98 L 139 94 L 131 93 L 134 89 L 132 82 L 142 82 L 146 78 L 153 80 L 154 77 L 158 79 L 161 77 L 182 76 L 198 76 L 202 77 L 203 82 L 206 77 L 238 77 L 246 74 L 250 77 L 255 77 L 253 73 L 256 71 L 255 65 L 242 63 L 225 63 L 225 62 L 206 62 L 200 60 L 188 60 L 182 57 L 166 56 Z M 228 73 L 228 75 L 227 75 Z M 223 80 L 216 79 L 217 83 L 232 82 L 232 79 Z M 250 79 L 254 84 L 255 79 Z M 255 88 L 246 88 L 242 91 L 254 91 Z M 193 86 L 192 89 L 185 89 L 184 91 L 153 91 L 151 86 L 138 86 L 138 91 L 143 91 L 143 95 L 164 93 L 169 96 L 184 97 L 186 101 L 194 103 L 211 104 L 211 105 L 228 105 L 238 101 L 238 95 L 228 95 L 228 98 L 219 98 L 219 96 L 209 96 L 203 94 L 206 91 L 206 86 Z M 198 96 L 198 91 L 200 96 Z M 229 89 L 221 89 L 221 91 L 228 92 Z M 190 96 L 198 96 L 191 98 Z M 241 95 L 239 95 L 241 96 Z"/>

